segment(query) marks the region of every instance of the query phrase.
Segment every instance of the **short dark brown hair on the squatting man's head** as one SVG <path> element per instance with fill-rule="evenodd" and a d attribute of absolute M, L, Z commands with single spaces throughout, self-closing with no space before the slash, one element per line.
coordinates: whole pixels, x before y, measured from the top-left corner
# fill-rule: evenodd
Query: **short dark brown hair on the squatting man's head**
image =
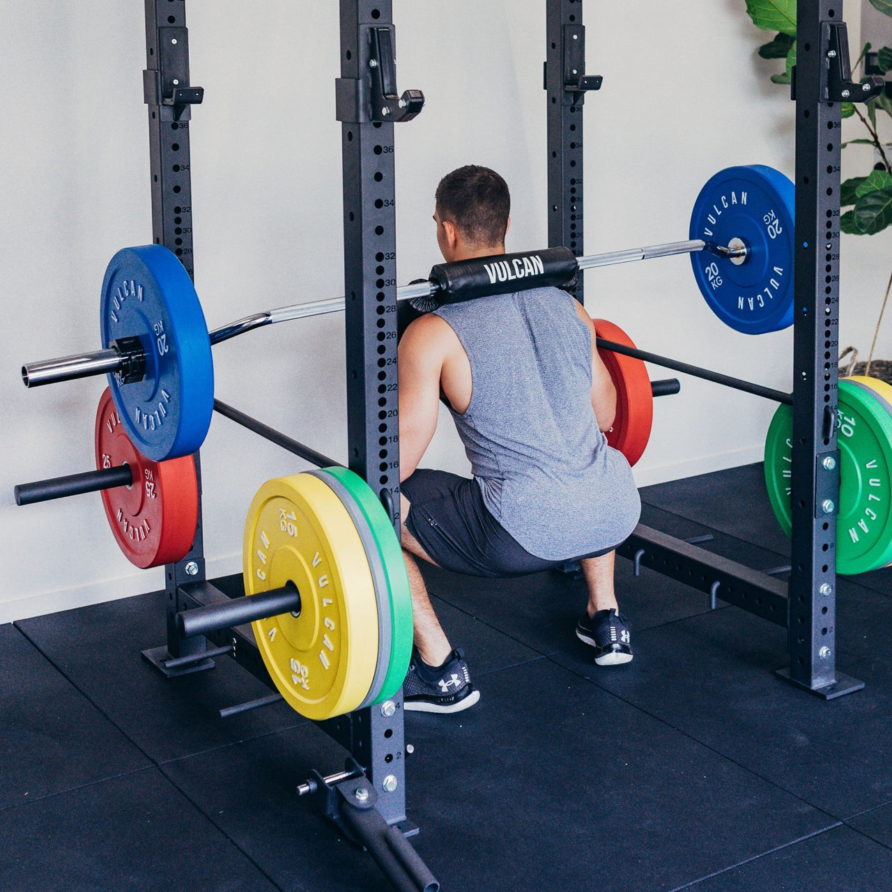
<path fill-rule="evenodd" d="M 477 164 L 453 170 L 440 180 L 435 202 L 440 219 L 453 223 L 470 244 L 504 243 L 511 194 L 495 170 Z"/>

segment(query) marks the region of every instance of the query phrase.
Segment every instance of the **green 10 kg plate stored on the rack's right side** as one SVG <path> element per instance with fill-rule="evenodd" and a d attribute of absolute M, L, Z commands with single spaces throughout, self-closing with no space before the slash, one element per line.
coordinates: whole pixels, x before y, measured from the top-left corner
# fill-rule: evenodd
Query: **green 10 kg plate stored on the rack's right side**
<path fill-rule="evenodd" d="M 792 409 L 780 406 L 765 439 L 765 483 L 788 536 L 792 440 Z M 867 573 L 892 561 L 892 387 L 873 378 L 840 381 L 837 440 L 837 573 Z"/>

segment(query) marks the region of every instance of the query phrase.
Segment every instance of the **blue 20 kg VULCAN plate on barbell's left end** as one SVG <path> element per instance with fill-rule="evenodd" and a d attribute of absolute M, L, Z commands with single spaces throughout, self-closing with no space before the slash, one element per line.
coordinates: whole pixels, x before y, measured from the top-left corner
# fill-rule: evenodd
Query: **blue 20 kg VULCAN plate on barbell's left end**
<path fill-rule="evenodd" d="M 111 397 L 136 449 L 153 461 L 190 455 L 211 426 L 214 375 L 211 339 L 192 280 L 159 244 L 124 248 L 105 270 L 99 326 L 103 348 L 138 337 L 145 377 L 120 384 Z"/>

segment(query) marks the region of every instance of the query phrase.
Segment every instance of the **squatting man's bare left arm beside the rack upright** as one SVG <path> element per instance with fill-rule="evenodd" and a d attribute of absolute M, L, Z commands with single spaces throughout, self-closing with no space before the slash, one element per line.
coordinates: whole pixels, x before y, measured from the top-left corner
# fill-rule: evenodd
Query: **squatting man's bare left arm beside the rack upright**
<path fill-rule="evenodd" d="M 413 474 L 437 429 L 444 356 L 441 318 L 416 319 L 400 341 L 400 482 Z"/>

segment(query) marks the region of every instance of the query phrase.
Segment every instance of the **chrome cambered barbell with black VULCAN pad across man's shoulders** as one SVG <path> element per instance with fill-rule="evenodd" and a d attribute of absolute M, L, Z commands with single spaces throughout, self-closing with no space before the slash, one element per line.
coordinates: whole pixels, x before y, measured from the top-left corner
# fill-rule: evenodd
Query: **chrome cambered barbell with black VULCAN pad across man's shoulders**
<path fill-rule="evenodd" d="M 536 252 L 497 254 L 437 264 L 431 269 L 430 278 L 397 288 L 397 300 L 415 301 L 419 310 L 434 310 L 443 303 L 521 290 L 516 287 L 516 282 L 524 283 L 526 279 L 529 279 L 528 284 L 525 284 L 527 288 L 565 285 L 582 269 L 702 251 L 740 263 L 745 262 L 749 256 L 747 246 L 739 239 L 732 240 L 727 247 L 703 239 L 691 239 L 578 258 L 568 248 L 561 247 Z M 255 328 L 343 312 L 343 309 L 343 297 L 335 297 L 325 301 L 295 303 L 277 310 L 265 310 L 214 329 L 210 333 L 211 344 L 228 341 Z M 134 342 L 134 338 L 123 338 L 113 341 L 105 350 L 29 363 L 21 367 L 22 382 L 26 387 L 37 387 L 41 384 L 57 384 L 113 373 L 122 376 L 122 383 L 136 383 L 145 374 L 145 357 Z"/>

